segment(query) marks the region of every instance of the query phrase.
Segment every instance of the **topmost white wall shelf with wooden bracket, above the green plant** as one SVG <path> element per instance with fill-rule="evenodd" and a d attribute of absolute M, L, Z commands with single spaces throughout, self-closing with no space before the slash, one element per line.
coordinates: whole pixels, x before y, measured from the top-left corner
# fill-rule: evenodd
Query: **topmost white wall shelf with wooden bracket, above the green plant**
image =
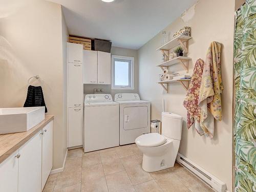
<path fill-rule="evenodd" d="M 188 39 L 190 38 L 192 37 L 186 35 L 179 35 L 178 37 L 175 37 L 174 39 L 166 42 L 166 44 L 164 44 L 163 46 L 159 47 L 157 51 L 161 50 L 164 53 L 164 51 L 168 51 L 178 45 L 181 45 L 184 49 L 184 52 L 188 53 Z"/>

